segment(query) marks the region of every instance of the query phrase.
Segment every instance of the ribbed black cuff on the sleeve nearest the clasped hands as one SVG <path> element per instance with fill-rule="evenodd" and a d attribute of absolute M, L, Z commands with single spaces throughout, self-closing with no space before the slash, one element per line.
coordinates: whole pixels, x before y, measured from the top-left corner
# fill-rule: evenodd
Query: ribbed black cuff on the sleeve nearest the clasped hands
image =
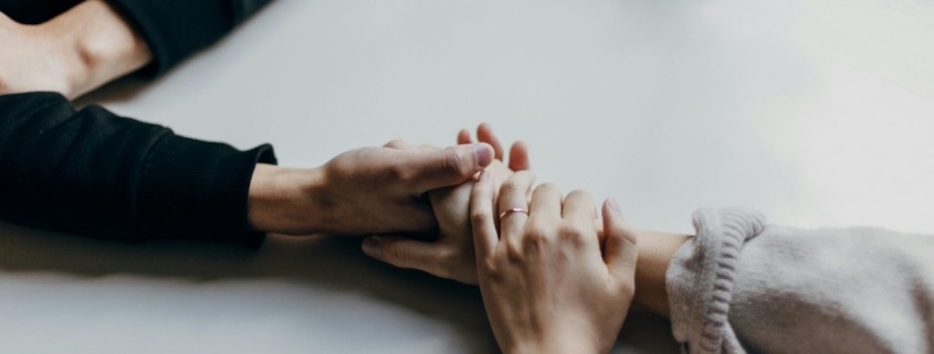
<path fill-rule="evenodd" d="M 259 247 L 265 234 L 252 230 L 246 215 L 258 162 L 276 163 L 271 146 L 240 151 L 167 135 L 150 150 L 139 176 L 137 235 Z"/>

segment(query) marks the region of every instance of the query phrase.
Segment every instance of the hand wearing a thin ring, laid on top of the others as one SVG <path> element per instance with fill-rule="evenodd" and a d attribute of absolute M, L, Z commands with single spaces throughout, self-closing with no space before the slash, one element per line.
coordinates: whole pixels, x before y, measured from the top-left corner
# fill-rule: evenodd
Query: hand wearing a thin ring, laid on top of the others
<path fill-rule="evenodd" d="M 532 172 L 504 184 L 497 235 L 494 183 L 481 174 L 471 195 L 478 277 L 486 313 L 504 353 L 606 353 L 612 346 L 634 292 L 636 234 L 615 201 L 604 203 L 606 251 L 594 227 L 596 207 L 587 192 L 562 202 L 553 184 L 527 191 Z"/>

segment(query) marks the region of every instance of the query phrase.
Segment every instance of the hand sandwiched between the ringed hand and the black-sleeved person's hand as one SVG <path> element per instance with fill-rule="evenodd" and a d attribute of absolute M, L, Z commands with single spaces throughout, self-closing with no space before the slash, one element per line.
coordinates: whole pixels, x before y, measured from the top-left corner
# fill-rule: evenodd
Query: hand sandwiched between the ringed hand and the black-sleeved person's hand
<path fill-rule="evenodd" d="M 517 141 L 510 151 L 510 167 L 503 163 L 503 147 L 490 125 L 480 125 L 476 131 L 481 142 L 493 146 L 495 160 L 486 168 L 496 183 L 502 183 L 515 169 L 527 170 L 528 152 L 525 143 Z M 470 133 L 461 130 L 459 143 L 472 143 Z M 433 147 L 414 147 L 397 143 L 403 150 L 432 150 Z M 364 251 L 376 259 L 401 268 L 413 268 L 441 278 L 476 285 L 476 257 L 470 228 L 470 193 L 473 180 L 460 185 L 438 189 L 428 193 L 434 216 L 438 218 L 439 237 L 433 242 L 400 236 L 372 236 L 364 240 Z"/>

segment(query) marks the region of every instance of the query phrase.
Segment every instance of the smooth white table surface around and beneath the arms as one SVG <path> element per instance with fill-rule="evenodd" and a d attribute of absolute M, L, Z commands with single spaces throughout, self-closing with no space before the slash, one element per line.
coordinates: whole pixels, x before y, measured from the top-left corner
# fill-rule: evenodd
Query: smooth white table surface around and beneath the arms
<path fill-rule="evenodd" d="M 291 167 L 489 121 L 539 181 L 616 196 L 639 227 L 741 205 L 934 234 L 931 0 L 281 0 L 80 103 Z M 476 289 L 319 236 L 251 251 L 0 224 L 0 353 L 496 351 Z M 630 352 L 676 352 L 667 321 L 636 313 Z"/>

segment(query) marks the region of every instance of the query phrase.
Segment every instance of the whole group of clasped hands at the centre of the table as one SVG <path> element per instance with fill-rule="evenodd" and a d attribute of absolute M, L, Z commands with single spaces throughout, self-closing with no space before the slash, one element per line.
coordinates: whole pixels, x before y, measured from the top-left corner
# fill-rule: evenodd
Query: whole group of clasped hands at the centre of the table
<path fill-rule="evenodd" d="M 600 222 L 587 192 L 534 186 L 524 143 L 506 167 L 487 125 L 478 140 L 463 130 L 447 149 L 397 140 L 312 171 L 260 165 L 250 221 L 286 234 L 382 235 L 364 240 L 367 255 L 479 285 L 504 353 L 608 352 L 634 292 L 636 233 L 613 200 Z M 527 214 L 501 217 L 515 208 Z M 417 236 L 429 234 L 438 238 Z"/>

